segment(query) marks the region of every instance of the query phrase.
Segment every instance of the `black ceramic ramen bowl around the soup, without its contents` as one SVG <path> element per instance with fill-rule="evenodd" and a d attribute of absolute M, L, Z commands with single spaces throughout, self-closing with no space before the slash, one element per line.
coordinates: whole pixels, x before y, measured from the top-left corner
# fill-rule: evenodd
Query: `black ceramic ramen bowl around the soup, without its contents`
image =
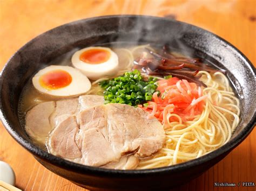
<path fill-rule="evenodd" d="M 18 118 L 18 100 L 30 77 L 73 48 L 107 44 L 170 44 L 186 54 L 227 70 L 240 98 L 240 123 L 231 140 L 198 159 L 163 168 L 114 170 L 79 165 L 33 145 Z M 255 125 L 255 68 L 237 48 L 199 27 L 149 16 L 106 16 L 79 20 L 32 39 L 6 63 L 0 79 L 1 119 L 19 144 L 50 171 L 85 188 L 170 188 L 196 178 L 238 146 Z"/>

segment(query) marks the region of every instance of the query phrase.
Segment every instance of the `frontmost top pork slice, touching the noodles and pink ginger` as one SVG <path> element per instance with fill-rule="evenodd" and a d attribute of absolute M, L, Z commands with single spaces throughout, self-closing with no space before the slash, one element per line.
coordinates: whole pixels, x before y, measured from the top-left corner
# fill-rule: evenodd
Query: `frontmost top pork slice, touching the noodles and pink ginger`
<path fill-rule="evenodd" d="M 147 119 L 147 115 L 140 108 L 116 103 L 82 111 L 82 162 L 91 166 L 101 166 L 118 161 L 124 153 L 136 151 L 136 155 L 143 158 L 160 150 L 165 142 L 165 131 L 157 118 Z M 93 137 L 88 136 L 91 131 L 101 134 L 100 137 L 107 143 L 102 144 L 102 151 L 98 154 L 93 151 L 96 147 L 91 146 Z M 110 155 L 109 150 L 114 154 Z"/>

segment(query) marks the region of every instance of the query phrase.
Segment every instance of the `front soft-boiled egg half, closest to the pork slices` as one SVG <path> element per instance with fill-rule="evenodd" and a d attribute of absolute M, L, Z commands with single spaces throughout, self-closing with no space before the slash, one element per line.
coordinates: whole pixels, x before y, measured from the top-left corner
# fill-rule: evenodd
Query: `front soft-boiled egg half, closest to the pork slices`
<path fill-rule="evenodd" d="M 41 93 L 52 96 L 74 96 L 91 89 L 90 80 L 70 66 L 51 65 L 41 69 L 33 76 L 32 83 Z"/>

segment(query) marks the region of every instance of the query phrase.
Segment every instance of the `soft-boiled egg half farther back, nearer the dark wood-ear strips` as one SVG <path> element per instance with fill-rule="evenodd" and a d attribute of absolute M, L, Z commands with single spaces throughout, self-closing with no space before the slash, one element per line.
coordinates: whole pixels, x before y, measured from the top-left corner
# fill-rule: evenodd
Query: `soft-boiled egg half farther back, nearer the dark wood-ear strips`
<path fill-rule="evenodd" d="M 72 56 L 72 64 L 89 79 L 113 76 L 117 72 L 118 56 L 106 47 L 87 47 L 80 49 Z"/>

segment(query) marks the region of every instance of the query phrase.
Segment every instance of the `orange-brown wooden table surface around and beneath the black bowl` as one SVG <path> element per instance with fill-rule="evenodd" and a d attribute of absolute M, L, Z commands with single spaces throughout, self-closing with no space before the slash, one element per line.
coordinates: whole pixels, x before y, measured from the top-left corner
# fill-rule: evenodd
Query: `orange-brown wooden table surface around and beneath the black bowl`
<path fill-rule="evenodd" d="M 165 16 L 218 34 L 256 63 L 256 1 L 71 1 L 0 0 L 0 66 L 27 41 L 58 25 L 87 17 L 117 14 Z M 255 65 L 254 65 L 255 66 Z M 23 190 L 83 190 L 51 173 L 0 125 L 0 160 L 16 173 Z M 177 190 L 223 190 L 215 181 L 256 183 L 256 130 L 224 160 Z M 238 188 L 225 188 L 225 190 Z M 239 187 L 240 190 L 255 190 Z"/>

